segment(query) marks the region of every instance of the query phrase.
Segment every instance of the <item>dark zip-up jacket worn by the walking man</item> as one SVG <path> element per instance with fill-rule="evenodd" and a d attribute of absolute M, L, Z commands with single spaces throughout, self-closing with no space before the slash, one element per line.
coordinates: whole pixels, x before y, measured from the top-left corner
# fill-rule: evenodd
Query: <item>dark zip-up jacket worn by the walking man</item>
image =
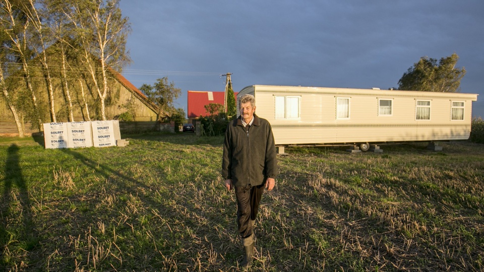
<path fill-rule="evenodd" d="M 276 178 L 277 159 L 272 128 L 266 119 L 254 114 L 249 127 L 238 117 L 230 121 L 223 143 L 222 177 L 231 179 L 233 186 L 263 184 L 267 178 Z"/>

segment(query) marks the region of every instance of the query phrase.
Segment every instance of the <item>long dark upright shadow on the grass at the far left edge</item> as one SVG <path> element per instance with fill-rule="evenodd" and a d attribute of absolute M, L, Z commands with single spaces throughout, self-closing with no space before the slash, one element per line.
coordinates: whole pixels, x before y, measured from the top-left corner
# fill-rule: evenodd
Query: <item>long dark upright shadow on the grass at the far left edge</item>
<path fill-rule="evenodd" d="M 13 144 L 7 150 L 7 161 L 5 164 L 5 178 L 3 180 L 4 190 L 2 199 L 0 199 L 0 264 L 7 264 L 8 259 L 5 251 L 8 250 L 8 246 L 13 243 L 18 245 L 25 251 L 29 252 L 29 257 L 35 258 L 31 251 L 38 245 L 39 238 L 37 231 L 35 230 L 33 218 L 32 218 L 32 204 L 29 198 L 29 190 L 22 175 L 22 169 L 20 167 L 20 148 Z M 21 209 L 20 212 L 12 211 L 12 194 L 15 193 L 15 187 L 18 189 L 18 199 Z M 18 230 L 12 229 L 11 222 L 17 220 L 13 218 L 14 214 L 20 215 L 21 224 Z M 9 230 L 10 228 L 10 230 Z M 18 237 L 13 237 L 12 233 L 18 231 Z M 15 235 L 15 234 L 14 234 Z M 17 238 L 17 241 L 15 241 Z"/>

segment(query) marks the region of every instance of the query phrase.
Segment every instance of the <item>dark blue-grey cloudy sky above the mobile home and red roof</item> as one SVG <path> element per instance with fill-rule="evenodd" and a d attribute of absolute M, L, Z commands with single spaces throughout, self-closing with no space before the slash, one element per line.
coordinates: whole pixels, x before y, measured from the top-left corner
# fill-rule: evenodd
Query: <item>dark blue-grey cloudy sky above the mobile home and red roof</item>
<path fill-rule="evenodd" d="M 453 52 L 479 94 L 484 117 L 484 1 L 481 0 L 121 0 L 129 17 L 135 86 L 167 76 L 182 95 L 254 84 L 338 88 L 397 87 L 422 56 Z"/>

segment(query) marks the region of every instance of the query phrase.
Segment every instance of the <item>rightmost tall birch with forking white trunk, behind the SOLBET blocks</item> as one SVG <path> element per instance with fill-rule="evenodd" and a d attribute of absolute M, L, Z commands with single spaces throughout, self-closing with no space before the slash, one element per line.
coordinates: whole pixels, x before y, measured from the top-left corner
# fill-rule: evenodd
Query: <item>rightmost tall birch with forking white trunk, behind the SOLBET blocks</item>
<path fill-rule="evenodd" d="M 63 12 L 75 28 L 84 65 L 99 97 L 101 118 L 106 120 L 106 100 L 112 91 L 109 70 L 121 71 L 131 61 L 126 50 L 131 30 L 128 18 L 122 16 L 119 0 L 70 0 Z"/>

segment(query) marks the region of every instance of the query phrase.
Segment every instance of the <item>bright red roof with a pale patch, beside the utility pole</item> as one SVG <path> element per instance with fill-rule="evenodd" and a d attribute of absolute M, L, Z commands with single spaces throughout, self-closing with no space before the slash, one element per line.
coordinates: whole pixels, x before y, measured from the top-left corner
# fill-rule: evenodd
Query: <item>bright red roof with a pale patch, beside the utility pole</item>
<path fill-rule="evenodd" d="M 208 115 L 204 106 L 210 103 L 223 105 L 224 93 L 225 92 L 188 91 L 188 117 Z M 234 97 L 237 99 L 237 93 L 234 93 Z"/>

